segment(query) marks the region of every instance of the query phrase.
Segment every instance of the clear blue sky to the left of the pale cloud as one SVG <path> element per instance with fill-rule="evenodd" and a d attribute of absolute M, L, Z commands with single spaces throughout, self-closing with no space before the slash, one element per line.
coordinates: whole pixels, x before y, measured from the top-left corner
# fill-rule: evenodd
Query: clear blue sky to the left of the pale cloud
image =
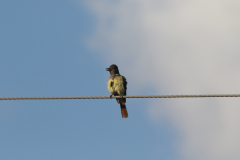
<path fill-rule="evenodd" d="M 87 46 L 97 17 L 83 3 L 1 1 L 0 15 L 1 97 L 109 95 L 105 68 L 115 61 Z M 0 157 L 171 159 L 174 131 L 156 128 L 147 104 L 129 99 L 122 119 L 115 100 L 1 101 Z"/>

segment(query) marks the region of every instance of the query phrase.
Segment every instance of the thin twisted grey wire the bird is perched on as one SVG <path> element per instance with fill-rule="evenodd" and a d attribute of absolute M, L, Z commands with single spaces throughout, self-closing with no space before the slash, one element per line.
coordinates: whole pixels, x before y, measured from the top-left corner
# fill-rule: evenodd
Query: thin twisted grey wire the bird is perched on
<path fill-rule="evenodd" d="M 206 95 L 143 95 L 112 96 L 112 98 L 207 98 L 207 97 L 240 97 L 240 94 L 206 94 Z M 0 97 L 0 100 L 47 100 L 47 99 L 110 99 L 110 96 L 79 97 Z"/>

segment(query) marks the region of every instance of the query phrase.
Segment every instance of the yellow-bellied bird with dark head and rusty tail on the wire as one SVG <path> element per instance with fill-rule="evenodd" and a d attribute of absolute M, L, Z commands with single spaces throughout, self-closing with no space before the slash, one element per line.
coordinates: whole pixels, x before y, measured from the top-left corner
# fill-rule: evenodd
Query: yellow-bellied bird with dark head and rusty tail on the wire
<path fill-rule="evenodd" d="M 127 80 L 124 76 L 121 76 L 116 64 L 112 64 L 109 68 L 110 77 L 107 82 L 108 91 L 112 96 L 125 96 L 127 93 Z M 126 108 L 126 98 L 116 98 L 117 102 L 120 104 L 122 118 L 128 118 L 128 112 Z"/>

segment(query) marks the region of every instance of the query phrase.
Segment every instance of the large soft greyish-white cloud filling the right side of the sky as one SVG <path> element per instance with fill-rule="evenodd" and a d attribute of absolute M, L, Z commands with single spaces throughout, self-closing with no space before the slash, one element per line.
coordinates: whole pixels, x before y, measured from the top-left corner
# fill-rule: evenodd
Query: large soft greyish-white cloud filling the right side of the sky
<path fill-rule="evenodd" d="M 161 94 L 240 93 L 239 0 L 86 3 L 98 19 L 91 45 L 137 82 L 135 90 L 151 84 Z M 149 115 L 172 121 L 184 159 L 240 158 L 238 98 L 167 103 L 164 108 L 152 101 Z"/>

